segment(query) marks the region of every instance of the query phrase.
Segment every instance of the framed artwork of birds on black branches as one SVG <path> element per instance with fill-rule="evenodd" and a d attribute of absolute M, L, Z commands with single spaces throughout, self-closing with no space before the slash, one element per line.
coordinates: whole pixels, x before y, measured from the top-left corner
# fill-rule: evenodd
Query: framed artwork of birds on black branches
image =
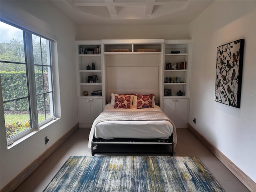
<path fill-rule="evenodd" d="M 215 101 L 240 108 L 244 39 L 217 47 Z"/>

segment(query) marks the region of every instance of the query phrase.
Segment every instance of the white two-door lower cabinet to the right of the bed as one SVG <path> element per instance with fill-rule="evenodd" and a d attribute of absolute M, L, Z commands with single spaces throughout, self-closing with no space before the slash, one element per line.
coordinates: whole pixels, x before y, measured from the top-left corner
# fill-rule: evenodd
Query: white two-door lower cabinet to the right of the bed
<path fill-rule="evenodd" d="M 164 113 L 172 120 L 177 128 L 186 128 L 188 123 L 188 99 L 164 99 Z"/>

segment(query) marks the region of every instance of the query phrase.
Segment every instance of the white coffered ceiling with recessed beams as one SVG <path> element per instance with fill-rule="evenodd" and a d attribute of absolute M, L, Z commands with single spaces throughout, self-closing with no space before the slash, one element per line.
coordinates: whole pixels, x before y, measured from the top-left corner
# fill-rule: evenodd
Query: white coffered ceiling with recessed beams
<path fill-rule="evenodd" d="M 210 0 L 57 0 L 78 25 L 189 24 Z"/>

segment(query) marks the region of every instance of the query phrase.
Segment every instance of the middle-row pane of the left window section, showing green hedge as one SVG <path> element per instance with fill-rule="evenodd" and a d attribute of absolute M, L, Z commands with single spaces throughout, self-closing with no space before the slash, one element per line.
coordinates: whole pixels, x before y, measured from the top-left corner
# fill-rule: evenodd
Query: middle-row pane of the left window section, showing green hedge
<path fill-rule="evenodd" d="M 3 101 L 28 96 L 25 64 L 0 63 Z"/>

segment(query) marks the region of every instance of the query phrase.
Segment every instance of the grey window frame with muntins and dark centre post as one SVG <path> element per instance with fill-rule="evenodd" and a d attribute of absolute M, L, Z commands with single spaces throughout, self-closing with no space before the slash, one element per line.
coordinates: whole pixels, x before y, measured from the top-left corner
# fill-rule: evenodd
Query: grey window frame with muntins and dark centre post
<path fill-rule="evenodd" d="M 27 86 L 28 86 L 28 96 L 26 96 L 25 98 L 28 98 L 28 105 L 29 105 L 29 114 L 30 114 L 30 128 L 10 137 L 10 138 L 6 138 L 7 140 L 7 146 L 8 144 L 12 144 L 13 142 L 22 139 L 23 137 L 25 137 L 26 135 L 28 135 L 29 133 L 33 132 L 33 131 L 38 131 L 40 130 L 41 127 L 43 127 L 44 125 L 48 124 L 49 122 L 51 122 L 52 120 L 56 119 L 56 100 L 55 100 L 55 92 L 54 92 L 54 62 L 53 62 L 53 54 L 54 54 L 54 50 L 53 50 L 53 46 L 54 43 L 56 43 L 54 40 L 51 40 L 49 38 L 46 38 L 44 36 L 41 36 L 37 33 L 31 32 L 29 30 L 26 30 L 20 26 L 16 26 L 15 24 L 12 24 L 10 22 L 7 22 L 5 20 L 0 19 L 1 22 L 4 22 L 5 24 L 8 24 L 10 26 L 16 27 L 20 30 L 22 30 L 23 32 L 23 43 L 24 43 L 24 54 L 25 54 L 25 63 L 20 63 L 20 64 L 25 64 L 26 65 L 26 78 L 27 78 Z M 50 66 L 49 65 L 44 65 L 42 64 L 41 66 L 47 66 L 50 67 L 50 79 L 51 82 L 49 82 L 49 84 L 51 84 L 51 91 L 45 92 L 43 90 L 43 95 L 45 95 L 46 93 L 50 93 L 52 94 L 52 103 L 50 105 L 52 105 L 52 110 L 53 110 L 53 116 L 50 116 L 50 118 L 43 120 L 42 122 L 38 122 L 38 109 L 37 109 L 37 94 L 36 94 L 36 78 L 35 78 L 35 72 L 34 72 L 34 55 L 33 55 L 33 43 L 32 43 L 32 35 L 36 35 L 38 37 L 40 37 L 40 51 L 41 51 L 41 57 L 42 57 L 42 44 L 41 44 L 41 38 L 47 40 L 47 43 L 49 46 L 49 54 L 50 54 Z M 19 62 L 9 62 L 9 61 L 2 61 L 4 63 L 13 63 L 13 64 L 17 64 Z M 49 74 L 48 74 L 49 75 Z M 1 86 L 2 89 L 2 86 Z M 20 98 L 15 98 L 13 100 L 18 100 Z M 10 101 L 10 100 L 8 100 Z M 3 101 L 3 104 L 6 101 Z M 45 107 L 45 99 L 44 99 L 44 109 Z M 5 114 L 4 114 L 5 115 Z M 45 116 L 46 117 L 46 116 Z M 6 129 L 6 127 L 5 127 Z"/>

